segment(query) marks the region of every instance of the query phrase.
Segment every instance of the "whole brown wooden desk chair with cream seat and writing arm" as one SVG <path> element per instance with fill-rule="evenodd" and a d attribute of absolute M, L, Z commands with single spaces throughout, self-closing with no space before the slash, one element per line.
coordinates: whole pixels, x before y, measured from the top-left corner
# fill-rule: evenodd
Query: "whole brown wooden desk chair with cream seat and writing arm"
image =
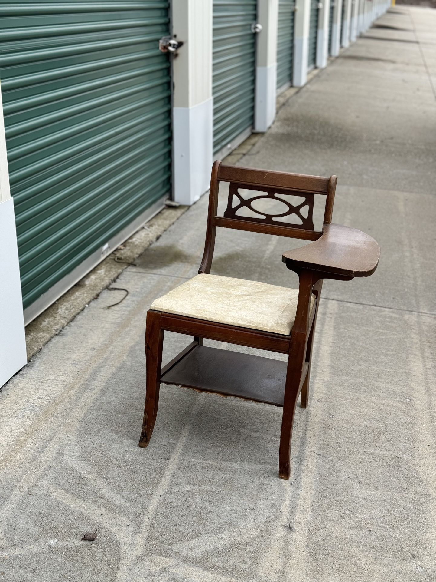
<path fill-rule="evenodd" d="M 220 182 L 229 183 L 223 217 L 217 216 Z M 336 182 L 336 176 L 320 178 L 213 164 L 199 275 L 154 301 L 147 313 L 146 398 L 139 446 L 145 448 L 151 439 L 160 382 L 237 396 L 283 407 L 278 462 L 280 477 L 290 477 L 292 425 L 300 393 L 301 407 L 308 405 L 310 360 L 323 279 L 349 281 L 369 276 L 376 270 L 380 255 L 378 244 L 370 236 L 331 224 Z M 241 189 L 259 194 L 246 199 Z M 326 200 L 322 232 L 313 225 L 316 195 Z M 300 196 L 303 201 L 293 205 L 287 196 Z M 265 204 L 269 199 L 284 202 L 287 211 L 273 215 L 253 208 L 255 200 L 264 200 L 260 204 Z M 253 218 L 246 216 L 253 213 Z M 301 224 L 283 222 L 292 214 Z M 210 275 L 217 226 L 314 241 L 282 257 L 288 269 L 298 274 L 299 289 Z M 166 330 L 192 335 L 194 340 L 161 370 Z M 288 361 L 206 347 L 203 338 L 288 354 Z"/>

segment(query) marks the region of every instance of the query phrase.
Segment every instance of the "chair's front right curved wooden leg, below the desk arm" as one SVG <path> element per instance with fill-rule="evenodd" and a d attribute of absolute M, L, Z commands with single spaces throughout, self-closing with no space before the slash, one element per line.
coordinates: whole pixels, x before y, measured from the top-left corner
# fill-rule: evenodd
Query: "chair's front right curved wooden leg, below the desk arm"
<path fill-rule="evenodd" d="M 292 428 L 294 428 L 295 409 L 305 361 L 305 338 L 301 338 L 300 341 L 295 339 L 293 344 L 286 372 L 280 450 L 278 453 L 278 472 L 282 479 L 289 479 L 291 474 Z"/>

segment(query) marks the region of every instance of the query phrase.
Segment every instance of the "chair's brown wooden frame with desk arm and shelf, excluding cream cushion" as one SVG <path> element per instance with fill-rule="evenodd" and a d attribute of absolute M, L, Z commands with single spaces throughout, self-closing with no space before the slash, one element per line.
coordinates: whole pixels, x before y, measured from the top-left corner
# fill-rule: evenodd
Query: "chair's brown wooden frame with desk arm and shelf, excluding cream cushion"
<path fill-rule="evenodd" d="M 220 182 L 230 183 L 223 217 L 217 216 Z M 210 273 L 217 226 L 314 241 L 288 251 L 282 257 L 287 267 L 299 277 L 294 326 L 290 335 L 285 336 L 149 310 L 145 332 L 146 398 L 139 446 L 145 448 L 151 439 L 158 412 L 160 382 L 194 388 L 199 392 L 266 402 L 283 406 L 279 473 L 283 479 L 290 477 L 292 427 L 300 394 L 301 407 L 308 406 L 313 336 L 323 279 L 350 281 L 354 277 L 369 276 L 376 270 L 380 256 L 378 244 L 370 236 L 360 230 L 331 224 L 336 183 L 336 176 L 321 178 L 237 168 L 218 161 L 213 164 L 205 250 L 198 272 Z M 255 198 L 245 200 L 238 189 L 258 190 L 259 196 L 255 198 L 280 199 L 288 205 L 288 211 L 280 215 L 257 211 L 251 206 Z M 281 194 L 280 198 L 276 198 L 276 194 Z M 304 201 L 294 206 L 285 200 L 284 194 L 302 196 Z M 312 221 L 313 200 L 317 194 L 326 197 L 322 232 L 315 231 Z M 239 200 L 236 207 L 234 200 Z M 238 215 L 241 206 L 257 212 L 259 218 Z M 309 207 L 307 217 L 301 213 L 305 206 Z M 290 214 L 296 214 L 302 224 L 277 223 L 277 217 Z M 312 293 L 316 303 L 310 312 Z M 192 335 L 194 341 L 162 368 L 165 331 Z M 203 338 L 288 354 L 288 361 L 204 347 Z M 237 378 L 231 376 L 235 367 L 244 370 Z M 263 379 L 262 370 L 268 370 L 268 381 Z M 203 374 L 207 376 L 204 380 Z"/>

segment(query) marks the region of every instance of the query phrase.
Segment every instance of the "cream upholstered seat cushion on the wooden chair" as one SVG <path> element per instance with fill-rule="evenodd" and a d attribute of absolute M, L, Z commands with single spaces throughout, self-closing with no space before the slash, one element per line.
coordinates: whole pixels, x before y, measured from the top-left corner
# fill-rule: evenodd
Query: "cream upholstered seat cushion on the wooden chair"
<path fill-rule="evenodd" d="M 151 309 L 290 335 L 297 301 L 298 289 L 201 274 L 153 301 Z M 314 304 L 312 294 L 311 312 Z"/>

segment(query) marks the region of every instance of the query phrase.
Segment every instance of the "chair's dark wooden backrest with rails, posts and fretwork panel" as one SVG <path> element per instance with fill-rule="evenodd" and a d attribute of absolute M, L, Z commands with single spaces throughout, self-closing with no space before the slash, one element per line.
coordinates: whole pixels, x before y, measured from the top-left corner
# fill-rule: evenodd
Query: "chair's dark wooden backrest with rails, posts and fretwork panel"
<path fill-rule="evenodd" d="M 227 208 L 223 217 L 217 216 L 220 182 L 229 184 Z M 238 168 L 216 161 L 212 166 L 206 243 L 199 273 L 210 272 L 217 226 L 296 239 L 319 239 L 322 233 L 316 231 L 313 225 L 315 194 L 326 197 L 324 224 L 330 224 L 336 183 L 337 176 L 322 178 L 288 172 Z M 258 191 L 259 194 L 244 197 L 241 190 Z M 294 203 L 295 196 L 299 197 L 296 204 Z M 276 214 L 270 214 L 266 208 L 259 210 L 259 204 L 256 204 L 258 208 L 253 207 L 253 203 L 259 200 L 276 201 L 276 205 L 277 201 L 280 201 L 281 210 Z M 301 223 L 286 222 L 286 217 L 291 217 L 291 215 L 295 215 Z"/>

